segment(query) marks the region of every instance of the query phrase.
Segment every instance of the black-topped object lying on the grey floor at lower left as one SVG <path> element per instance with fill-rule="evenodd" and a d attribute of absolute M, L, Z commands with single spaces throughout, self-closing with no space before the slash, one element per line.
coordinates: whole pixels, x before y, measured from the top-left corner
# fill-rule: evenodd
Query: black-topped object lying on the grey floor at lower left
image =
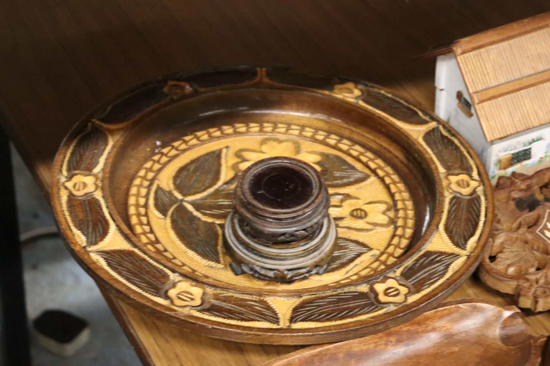
<path fill-rule="evenodd" d="M 41 346 L 67 357 L 72 356 L 90 338 L 86 320 L 61 310 L 46 310 L 32 325 Z"/>

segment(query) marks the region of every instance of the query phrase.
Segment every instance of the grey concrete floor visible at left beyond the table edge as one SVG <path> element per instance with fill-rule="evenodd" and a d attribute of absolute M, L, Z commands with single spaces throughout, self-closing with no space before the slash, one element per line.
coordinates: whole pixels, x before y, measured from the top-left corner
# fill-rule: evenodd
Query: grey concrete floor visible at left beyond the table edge
<path fill-rule="evenodd" d="M 13 162 L 21 233 L 54 226 L 50 205 L 17 153 Z M 141 365 L 94 281 L 70 256 L 61 238 L 23 244 L 23 264 L 29 319 L 46 309 L 62 309 L 86 319 L 91 330 L 90 341 L 70 358 L 50 353 L 33 339 L 33 365 Z"/>

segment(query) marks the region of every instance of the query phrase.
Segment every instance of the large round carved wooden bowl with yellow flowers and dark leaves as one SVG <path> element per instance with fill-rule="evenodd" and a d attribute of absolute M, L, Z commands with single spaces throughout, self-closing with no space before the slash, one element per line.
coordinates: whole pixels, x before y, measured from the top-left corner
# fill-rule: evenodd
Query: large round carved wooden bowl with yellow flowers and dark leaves
<path fill-rule="evenodd" d="M 239 174 L 271 156 L 317 170 L 337 228 L 323 274 L 235 275 L 223 246 Z M 269 344 L 364 336 L 433 308 L 476 267 L 490 186 L 448 125 L 368 83 L 226 67 L 142 83 L 90 112 L 52 201 L 84 268 L 201 334 Z"/>

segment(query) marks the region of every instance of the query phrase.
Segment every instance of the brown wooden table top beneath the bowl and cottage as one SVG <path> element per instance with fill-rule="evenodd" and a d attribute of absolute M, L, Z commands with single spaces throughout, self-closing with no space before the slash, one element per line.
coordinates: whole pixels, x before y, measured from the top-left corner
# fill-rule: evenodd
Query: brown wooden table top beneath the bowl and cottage
<path fill-rule="evenodd" d="M 550 10 L 547 0 L 5 0 L 0 2 L 0 120 L 48 192 L 53 156 L 80 116 L 169 71 L 284 64 L 362 78 L 433 110 L 432 47 Z M 472 277 L 449 299 L 513 303 Z M 199 336 L 106 295 L 145 364 L 257 365 L 300 346 Z M 533 334 L 550 314 L 525 313 Z"/>

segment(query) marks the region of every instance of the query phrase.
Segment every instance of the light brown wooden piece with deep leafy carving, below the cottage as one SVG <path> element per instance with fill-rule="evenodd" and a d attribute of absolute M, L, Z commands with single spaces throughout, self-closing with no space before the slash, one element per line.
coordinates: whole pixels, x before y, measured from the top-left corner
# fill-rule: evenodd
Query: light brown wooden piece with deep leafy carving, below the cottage
<path fill-rule="evenodd" d="M 500 177 L 496 220 L 479 269 L 487 285 L 515 294 L 518 306 L 550 309 L 550 168 Z"/>

